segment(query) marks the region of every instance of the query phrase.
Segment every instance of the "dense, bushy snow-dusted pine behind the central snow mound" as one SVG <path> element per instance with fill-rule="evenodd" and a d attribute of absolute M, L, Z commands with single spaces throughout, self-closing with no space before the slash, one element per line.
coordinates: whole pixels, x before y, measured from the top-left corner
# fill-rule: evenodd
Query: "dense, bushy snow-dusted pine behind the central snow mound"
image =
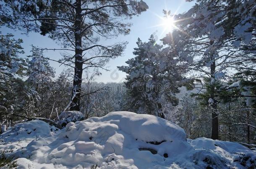
<path fill-rule="evenodd" d="M 128 74 L 125 85 L 131 98 L 129 107 L 138 113 L 165 118 L 164 101 L 172 106 L 178 104 L 175 93 L 179 92 L 183 69 L 175 67 L 178 61 L 171 58 L 171 51 L 162 50 L 153 35 L 147 43 L 138 38 L 137 45 L 133 52 L 136 57 L 126 61 L 128 66 L 118 67 Z"/>

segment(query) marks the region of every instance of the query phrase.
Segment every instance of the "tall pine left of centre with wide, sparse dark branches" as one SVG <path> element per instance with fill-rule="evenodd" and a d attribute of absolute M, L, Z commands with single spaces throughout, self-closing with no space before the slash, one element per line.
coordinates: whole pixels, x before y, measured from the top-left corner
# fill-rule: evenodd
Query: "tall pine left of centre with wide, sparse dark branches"
<path fill-rule="evenodd" d="M 128 34 L 131 24 L 123 20 L 148 6 L 142 0 L 20 0 L 5 1 L 1 8 L 10 11 L 2 13 L 11 15 L 9 25 L 49 34 L 63 46 L 60 50 L 73 52 L 65 55 L 61 63 L 74 68 L 70 109 L 79 111 L 83 70 L 103 68 L 110 58 L 120 56 L 127 44 L 101 45 L 99 40 Z"/>

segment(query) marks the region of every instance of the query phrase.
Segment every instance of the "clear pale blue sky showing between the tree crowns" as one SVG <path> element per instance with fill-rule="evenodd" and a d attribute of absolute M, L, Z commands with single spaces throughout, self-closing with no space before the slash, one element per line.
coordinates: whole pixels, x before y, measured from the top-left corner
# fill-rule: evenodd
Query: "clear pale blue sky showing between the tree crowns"
<path fill-rule="evenodd" d="M 137 39 L 141 38 L 142 41 L 146 41 L 152 34 L 155 35 L 156 39 L 161 39 L 170 31 L 165 30 L 164 26 L 156 26 L 162 24 L 162 20 L 159 18 L 164 16 L 162 10 L 170 10 L 172 14 L 178 14 L 188 11 L 194 5 L 193 2 L 186 2 L 185 0 L 144 0 L 144 2 L 149 6 L 149 10 L 141 13 L 141 15 L 134 16 L 133 19 L 129 20 L 129 22 L 133 24 L 129 35 L 108 40 L 109 42 L 103 42 L 104 44 L 113 44 L 118 41 L 128 41 L 128 45 L 122 57 L 115 58 L 107 63 L 106 67 L 110 71 L 101 71 L 102 76 L 96 77 L 96 81 L 105 83 L 124 81 L 125 73 L 118 71 L 117 66 L 126 65 L 125 61 L 134 57 L 132 52 L 133 48 L 136 47 Z M 24 48 L 25 55 L 30 54 L 31 44 L 40 48 L 60 48 L 55 41 L 47 36 L 42 36 L 39 33 L 29 33 L 28 35 L 24 35 L 18 30 L 14 31 L 5 27 L 0 28 L 0 31 L 3 34 L 12 33 L 16 39 L 22 38 L 24 40 L 22 47 Z M 55 60 L 61 58 L 60 51 L 58 50 L 49 50 L 45 52 L 44 55 Z M 57 75 L 66 68 L 54 61 L 50 61 L 50 64 L 55 68 Z"/>

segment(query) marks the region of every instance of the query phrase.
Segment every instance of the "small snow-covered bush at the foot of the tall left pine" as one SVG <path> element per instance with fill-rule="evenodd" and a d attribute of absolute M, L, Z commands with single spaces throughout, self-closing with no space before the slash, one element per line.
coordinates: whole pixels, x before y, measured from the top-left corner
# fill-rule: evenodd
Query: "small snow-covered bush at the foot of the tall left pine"
<path fill-rule="evenodd" d="M 65 127 L 69 122 L 76 122 L 84 119 L 80 111 L 63 111 L 59 116 L 58 124 Z"/>

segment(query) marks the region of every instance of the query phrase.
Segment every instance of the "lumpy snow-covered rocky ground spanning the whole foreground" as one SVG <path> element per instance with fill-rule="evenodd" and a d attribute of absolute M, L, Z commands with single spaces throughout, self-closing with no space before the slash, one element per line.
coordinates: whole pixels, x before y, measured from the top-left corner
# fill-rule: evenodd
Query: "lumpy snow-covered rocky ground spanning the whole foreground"
<path fill-rule="evenodd" d="M 186 139 L 183 129 L 156 116 L 111 112 L 56 130 L 44 121 L 17 124 L 0 135 L 18 169 L 248 168 L 256 152 L 238 143 Z"/>

